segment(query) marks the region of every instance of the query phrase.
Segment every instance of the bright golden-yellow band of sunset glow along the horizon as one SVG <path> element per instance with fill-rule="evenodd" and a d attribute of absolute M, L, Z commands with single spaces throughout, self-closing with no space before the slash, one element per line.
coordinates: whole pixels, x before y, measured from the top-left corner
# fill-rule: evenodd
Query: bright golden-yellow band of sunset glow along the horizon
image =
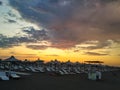
<path fill-rule="evenodd" d="M 0 58 L 6 59 L 9 56 L 14 55 L 16 58 L 20 60 L 27 59 L 30 61 L 37 60 L 38 58 L 44 60 L 45 62 L 55 59 L 63 62 L 70 60 L 71 62 L 80 62 L 80 63 L 84 63 L 84 61 L 87 60 L 99 60 L 99 61 L 103 61 L 104 64 L 106 65 L 115 65 L 115 66 L 120 65 L 118 59 L 120 58 L 120 56 L 94 56 L 94 55 L 91 56 L 82 53 L 73 52 L 72 50 L 61 50 L 55 48 L 48 48 L 46 50 L 32 50 L 26 48 L 25 46 L 22 47 L 19 46 L 19 47 L 2 50 L 2 54 L 0 55 Z"/>

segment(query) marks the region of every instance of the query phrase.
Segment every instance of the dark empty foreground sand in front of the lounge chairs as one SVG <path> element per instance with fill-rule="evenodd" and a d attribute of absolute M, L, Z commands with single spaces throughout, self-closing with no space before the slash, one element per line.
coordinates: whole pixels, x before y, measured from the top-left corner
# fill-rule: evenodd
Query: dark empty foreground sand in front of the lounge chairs
<path fill-rule="evenodd" d="M 101 81 L 87 80 L 86 74 L 52 76 L 32 73 L 19 80 L 0 81 L 0 90 L 120 90 L 120 71 L 103 73 Z"/>

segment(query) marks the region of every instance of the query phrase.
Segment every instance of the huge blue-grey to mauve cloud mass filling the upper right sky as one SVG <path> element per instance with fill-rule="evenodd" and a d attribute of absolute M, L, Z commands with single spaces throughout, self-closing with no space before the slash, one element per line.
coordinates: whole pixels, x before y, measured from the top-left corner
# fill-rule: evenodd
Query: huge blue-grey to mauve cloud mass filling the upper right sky
<path fill-rule="evenodd" d="M 87 40 L 103 42 L 120 38 L 119 0 L 9 0 L 9 2 L 24 19 L 46 28 L 51 36 L 49 41 L 56 48 L 70 48 Z M 39 39 L 38 34 L 32 35 Z"/>

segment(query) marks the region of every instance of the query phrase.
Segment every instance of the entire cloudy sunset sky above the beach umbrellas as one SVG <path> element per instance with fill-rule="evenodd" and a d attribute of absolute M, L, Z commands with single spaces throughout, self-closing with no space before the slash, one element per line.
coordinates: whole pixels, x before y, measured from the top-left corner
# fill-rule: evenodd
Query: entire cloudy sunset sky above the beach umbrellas
<path fill-rule="evenodd" d="M 0 0 L 0 58 L 120 66 L 120 0 Z"/>

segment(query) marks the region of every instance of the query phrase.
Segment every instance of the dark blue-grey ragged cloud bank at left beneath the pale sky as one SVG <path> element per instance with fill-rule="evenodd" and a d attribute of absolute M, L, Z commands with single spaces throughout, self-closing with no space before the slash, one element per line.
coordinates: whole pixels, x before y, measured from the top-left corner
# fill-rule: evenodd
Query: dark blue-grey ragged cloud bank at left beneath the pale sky
<path fill-rule="evenodd" d="M 46 40 L 47 38 L 45 30 L 35 30 L 33 27 L 29 27 L 24 29 L 23 32 L 26 34 L 25 36 L 8 37 L 0 34 L 0 48 L 11 48 L 14 46 L 19 46 L 22 43 L 37 43 L 42 40 Z M 34 48 L 33 46 L 27 47 Z"/>

